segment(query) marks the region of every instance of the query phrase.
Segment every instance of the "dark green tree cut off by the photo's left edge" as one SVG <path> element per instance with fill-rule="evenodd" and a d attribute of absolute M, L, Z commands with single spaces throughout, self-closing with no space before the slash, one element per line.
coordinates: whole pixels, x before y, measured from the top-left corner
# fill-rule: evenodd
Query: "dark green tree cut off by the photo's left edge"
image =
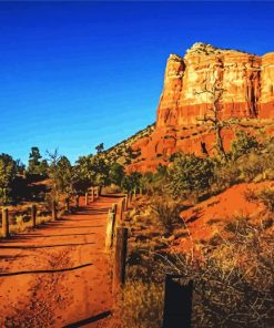
<path fill-rule="evenodd" d="M 17 165 L 13 158 L 8 154 L 0 154 L 0 201 L 3 205 L 9 201 L 16 173 Z"/>

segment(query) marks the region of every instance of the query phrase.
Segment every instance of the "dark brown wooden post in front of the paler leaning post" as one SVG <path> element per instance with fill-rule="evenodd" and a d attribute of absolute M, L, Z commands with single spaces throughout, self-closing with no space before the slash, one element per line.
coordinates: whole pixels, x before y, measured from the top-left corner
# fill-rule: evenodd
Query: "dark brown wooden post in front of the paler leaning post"
<path fill-rule="evenodd" d="M 128 228 L 116 227 L 116 240 L 113 265 L 113 291 L 123 287 L 125 281 L 125 260 L 128 248 Z"/>

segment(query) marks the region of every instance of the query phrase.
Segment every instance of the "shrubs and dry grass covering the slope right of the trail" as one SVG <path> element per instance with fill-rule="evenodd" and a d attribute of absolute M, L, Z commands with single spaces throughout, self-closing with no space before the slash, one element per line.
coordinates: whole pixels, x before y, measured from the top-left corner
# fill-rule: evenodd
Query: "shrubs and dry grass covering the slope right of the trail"
<path fill-rule="evenodd" d="M 241 131 L 225 162 L 217 155 L 174 154 L 168 167 L 134 175 L 131 191 L 145 195 L 133 201 L 124 223 L 131 229 L 128 283 L 116 303 L 123 327 L 160 327 L 162 283 L 171 273 L 194 280 L 193 327 L 273 326 L 274 189 L 265 184 L 273 181 L 273 146 L 272 137 Z M 211 234 L 194 237 L 191 223 L 199 219 L 200 204 L 241 184 L 247 204 L 261 211 L 232 211 L 230 219 L 213 215 Z M 187 208 L 195 215 L 184 219 Z M 181 240 L 189 246 L 181 248 Z"/>

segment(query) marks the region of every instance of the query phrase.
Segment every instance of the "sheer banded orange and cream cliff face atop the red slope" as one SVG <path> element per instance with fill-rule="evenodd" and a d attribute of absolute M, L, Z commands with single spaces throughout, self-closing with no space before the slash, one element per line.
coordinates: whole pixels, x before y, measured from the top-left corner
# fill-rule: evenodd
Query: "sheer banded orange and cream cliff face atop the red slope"
<path fill-rule="evenodd" d="M 224 89 L 222 116 L 273 117 L 274 53 L 257 57 L 195 43 L 184 58 L 171 54 L 158 109 L 156 126 L 201 120 L 212 106 L 213 85 Z"/>

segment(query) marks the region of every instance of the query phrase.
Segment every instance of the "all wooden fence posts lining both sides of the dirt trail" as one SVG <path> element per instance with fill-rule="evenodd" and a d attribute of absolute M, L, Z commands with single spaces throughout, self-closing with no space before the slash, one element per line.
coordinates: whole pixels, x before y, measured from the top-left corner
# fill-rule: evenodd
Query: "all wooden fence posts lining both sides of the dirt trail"
<path fill-rule="evenodd" d="M 89 188 L 84 195 L 84 203 L 88 206 L 91 202 L 99 198 L 99 187 Z M 105 252 L 112 255 L 112 290 L 116 293 L 123 288 L 125 284 L 126 253 L 129 229 L 122 226 L 125 218 L 132 196 L 124 195 L 118 198 L 119 202 L 112 204 L 108 213 L 106 235 L 105 235 Z M 79 206 L 79 197 L 77 198 L 77 207 Z M 41 208 L 40 208 L 41 209 Z M 65 199 L 65 211 L 70 212 L 70 202 Z M 31 227 L 37 227 L 38 206 L 31 205 L 28 212 L 30 213 Z M 2 236 L 9 238 L 11 215 L 14 211 L 9 212 L 8 208 L 2 209 Z M 26 211 L 24 211 L 26 213 Z M 50 213 L 50 212 L 49 212 Z M 51 219 L 58 219 L 58 204 L 52 203 Z M 164 312 L 162 328 L 190 328 L 191 311 L 192 311 L 192 290 L 193 281 L 187 284 L 181 281 L 181 276 L 166 275 L 165 291 L 164 291 Z"/>

